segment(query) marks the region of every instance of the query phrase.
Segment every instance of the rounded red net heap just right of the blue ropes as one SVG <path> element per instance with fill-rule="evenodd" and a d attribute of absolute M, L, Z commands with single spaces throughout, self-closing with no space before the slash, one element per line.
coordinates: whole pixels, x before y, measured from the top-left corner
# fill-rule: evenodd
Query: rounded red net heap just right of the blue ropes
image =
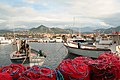
<path fill-rule="evenodd" d="M 75 62 L 73 60 L 66 59 L 59 64 L 57 69 L 63 74 L 65 80 L 89 80 L 89 69 L 83 62 Z"/>

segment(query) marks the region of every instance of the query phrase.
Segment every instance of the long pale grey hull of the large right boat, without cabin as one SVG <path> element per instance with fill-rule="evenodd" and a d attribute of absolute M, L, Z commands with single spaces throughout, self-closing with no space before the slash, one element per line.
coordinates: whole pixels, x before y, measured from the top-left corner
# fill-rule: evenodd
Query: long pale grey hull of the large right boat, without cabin
<path fill-rule="evenodd" d="M 64 46 L 68 49 L 68 53 L 75 54 L 79 56 L 88 56 L 92 58 L 97 58 L 103 52 L 110 52 L 110 49 L 96 48 L 95 46 L 81 46 L 78 48 L 76 45 L 70 45 L 69 43 L 64 43 Z"/>

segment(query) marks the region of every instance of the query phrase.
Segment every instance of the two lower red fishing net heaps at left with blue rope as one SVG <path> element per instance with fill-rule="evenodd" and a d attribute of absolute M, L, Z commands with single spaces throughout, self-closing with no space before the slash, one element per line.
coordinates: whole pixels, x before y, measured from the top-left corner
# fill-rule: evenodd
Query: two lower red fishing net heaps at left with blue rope
<path fill-rule="evenodd" d="M 49 67 L 11 64 L 0 68 L 0 80 L 63 80 L 63 76 Z"/>

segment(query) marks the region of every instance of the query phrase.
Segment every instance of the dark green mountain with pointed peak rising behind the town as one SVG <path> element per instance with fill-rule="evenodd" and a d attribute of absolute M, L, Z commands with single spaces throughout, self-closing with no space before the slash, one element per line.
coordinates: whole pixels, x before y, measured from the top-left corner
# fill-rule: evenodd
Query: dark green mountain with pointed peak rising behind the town
<path fill-rule="evenodd" d="M 44 25 L 40 25 L 37 28 L 30 29 L 32 32 L 40 33 L 54 33 L 54 34 L 67 34 L 70 33 L 70 29 L 61 29 L 61 28 L 48 28 Z"/>

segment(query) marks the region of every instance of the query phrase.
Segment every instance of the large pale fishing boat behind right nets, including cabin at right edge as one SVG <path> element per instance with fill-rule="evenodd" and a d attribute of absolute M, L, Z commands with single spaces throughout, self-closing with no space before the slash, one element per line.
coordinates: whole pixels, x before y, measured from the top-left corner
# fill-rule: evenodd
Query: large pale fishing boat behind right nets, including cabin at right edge
<path fill-rule="evenodd" d="M 75 54 L 79 56 L 88 56 L 92 58 L 97 58 L 98 55 L 100 55 L 103 52 L 112 52 L 112 53 L 120 53 L 119 45 L 120 45 L 120 35 L 110 35 L 112 36 L 112 43 L 105 44 L 94 44 L 94 45 L 89 45 L 89 44 L 84 44 L 84 43 L 79 43 L 79 42 L 66 42 L 64 43 L 64 46 L 68 49 L 69 54 Z"/>

